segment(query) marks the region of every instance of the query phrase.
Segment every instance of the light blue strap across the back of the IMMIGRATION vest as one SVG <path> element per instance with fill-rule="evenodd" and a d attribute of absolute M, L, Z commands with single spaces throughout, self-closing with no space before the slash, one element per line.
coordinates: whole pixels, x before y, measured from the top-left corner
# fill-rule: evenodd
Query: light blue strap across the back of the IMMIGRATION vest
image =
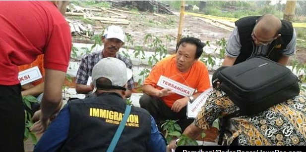
<path fill-rule="evenodd" d="M 122 118 L 122 120 L 121 120 L 121 122 L 119 124 L 119 127 L 117 128 L 117 131 L 116 131 L 116 133 L 115 133 L 115 135 L 113 137 L 113 140 L 112 140 L 112 142 L 111 142 L 111 144 L 110 144 L 110 146 L 109 146 L 109 148 L 107 149 L 106 152 L 113 152 L 114 151 L 114 149 L 115 149 L 115 147 L 116 147 L 116 145 L 117 145 L 117 143 L 119 141 L 119 138 L 120 138 L 120 136 L 122 134 L 122 131 L 124 129 L 124 126 L 125 126 L 125 123 L 127 121 L 127 118 L 128 118 L 128 115 L 129 115 L 130 111 L 131 111 L 131 106 L 126 105 L 123 118 Z"/>

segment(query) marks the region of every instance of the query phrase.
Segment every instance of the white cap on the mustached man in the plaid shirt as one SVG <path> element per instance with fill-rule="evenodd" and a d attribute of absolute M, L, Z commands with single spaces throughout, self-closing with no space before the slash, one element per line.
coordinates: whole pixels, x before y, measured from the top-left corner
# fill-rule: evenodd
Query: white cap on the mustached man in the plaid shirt
<path fill-rule="evenodd" d="M 124 42 L 125 34 L 119 26 L 111 25 L 104 30 L 103 37 L 118 38 Z"/>

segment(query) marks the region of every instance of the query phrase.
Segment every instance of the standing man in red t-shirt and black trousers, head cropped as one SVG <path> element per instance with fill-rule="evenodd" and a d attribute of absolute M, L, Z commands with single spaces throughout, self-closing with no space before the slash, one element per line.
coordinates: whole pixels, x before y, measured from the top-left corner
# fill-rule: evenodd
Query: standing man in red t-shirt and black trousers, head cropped
<path fill-rule="evenodd" d="M 18 67 L 44 55 L 42 115 L 33 130 L 43 132 L 61 102 L 71 51 L 70 28 L 62 14 L 67 1 L 0 1 L 1 152 L 24 152 L 24 105 Z M 59 11 L 60 10 L 60 11 Z"/>

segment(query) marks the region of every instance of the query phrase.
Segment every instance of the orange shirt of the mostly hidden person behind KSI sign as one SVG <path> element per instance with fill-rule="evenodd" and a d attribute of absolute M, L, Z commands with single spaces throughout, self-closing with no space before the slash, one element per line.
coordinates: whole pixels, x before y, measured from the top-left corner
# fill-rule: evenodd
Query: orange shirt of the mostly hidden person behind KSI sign
<path fill-rule="evenodd" d="M 43 77 L 36 80 L 36 81 L 33 81 L 31 84 L 34 85 L 34 86 L 44 82 L 44 77 L 45 77 L 44 54 L 41 54 L 41 55 L 37 56 L 36 60 L 34 60 L 30 64 L 18 66 L 19 72 L 27 70 L 29 68 L 33 68 L 35 66 L 38 67 L 38 69 L 39 69 L 39 71 L 40 71 L 40 73 L 42 74 Z"/>

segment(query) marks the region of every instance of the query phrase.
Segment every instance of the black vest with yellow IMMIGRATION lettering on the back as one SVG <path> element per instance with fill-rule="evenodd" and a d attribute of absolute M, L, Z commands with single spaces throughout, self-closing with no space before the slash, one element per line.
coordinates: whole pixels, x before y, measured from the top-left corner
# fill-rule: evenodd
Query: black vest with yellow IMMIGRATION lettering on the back
<path fill-rule="evenodd" d="M 126 104 L 116 93 L 69 102 L 70 127 L 61 152 L 106 152 Z M 150 114 L 132 106 L 114 152 L 146 152 L 151 132 Z"/>

